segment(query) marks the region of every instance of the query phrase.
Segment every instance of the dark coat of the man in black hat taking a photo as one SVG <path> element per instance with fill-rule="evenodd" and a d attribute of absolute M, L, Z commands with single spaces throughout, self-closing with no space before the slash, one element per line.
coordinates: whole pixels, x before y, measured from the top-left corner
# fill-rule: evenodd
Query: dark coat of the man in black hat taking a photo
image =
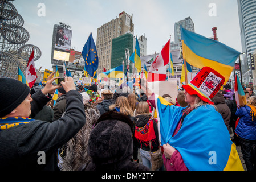
<path fill-rule="evenodd" d="M 38 99 L 33 96 L 33 100 Z M 1 170 L 31 172 L 55 169 L 56 150 L 74 137 L 86 121 L 82 95 L 70 90 L 66 98 L 67 108 L 63 118 L 52 123 L 35 120 L 0 131 Z M 40 158 L 45 159 L 45 164 L 38 163 L 38 160 L 42 162 Z"/>

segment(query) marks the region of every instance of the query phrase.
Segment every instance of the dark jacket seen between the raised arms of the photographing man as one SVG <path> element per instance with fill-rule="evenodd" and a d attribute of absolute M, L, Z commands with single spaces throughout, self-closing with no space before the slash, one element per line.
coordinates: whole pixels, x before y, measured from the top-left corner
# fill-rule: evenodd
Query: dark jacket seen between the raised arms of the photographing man
<path fill-rule="evenodd" d="M 54 119 L 58 120 L 59 118 L 62 117 L 63 113 L 66 110 L 66 94 L 63 94 L 62 96 L 60 96 L 57 100 L 56 100 L 56 104 L 54 106 Z"/>

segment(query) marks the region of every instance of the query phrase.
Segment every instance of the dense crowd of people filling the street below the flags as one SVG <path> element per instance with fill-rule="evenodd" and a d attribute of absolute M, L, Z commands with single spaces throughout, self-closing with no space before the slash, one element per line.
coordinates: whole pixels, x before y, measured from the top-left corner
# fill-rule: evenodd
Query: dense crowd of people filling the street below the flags
<path fill-rule="evenodd" d="M 197 76 L 208 72 L 218 76 L 209 68 Z M 44 86 L 30 89 L 0 78 L 0 169 L 149 171 L 151 152 L 161 147 L 164 164 L 157 170 L 243 170 L 235 145 L 246 169 L 256 169 L 252 88 L 245 88 L 247 105 L 237 109 L 230 85 L 220 89 L 224 80 L 206 95 L 193 78 L 176 98 L 153 93 L 145 78 L 140 94 L 128 82 L 112 88 L 55 80 L 53 72 Z M 210 163 L 212 151 L 218 156 Z"/>

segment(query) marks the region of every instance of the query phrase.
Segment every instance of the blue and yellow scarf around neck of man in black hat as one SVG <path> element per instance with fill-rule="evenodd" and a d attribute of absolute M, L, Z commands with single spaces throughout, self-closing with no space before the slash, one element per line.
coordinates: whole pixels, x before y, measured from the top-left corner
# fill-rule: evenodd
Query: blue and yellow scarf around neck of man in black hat
<path fill-rule="evenodd" d="M 23 117 L 9 117 L 9 118 L 0 118 L 0 131 L 9 129 L 10 127 L 25 125 L 30 121 L 34 121 L 31 118 L 23 118 Z"/>

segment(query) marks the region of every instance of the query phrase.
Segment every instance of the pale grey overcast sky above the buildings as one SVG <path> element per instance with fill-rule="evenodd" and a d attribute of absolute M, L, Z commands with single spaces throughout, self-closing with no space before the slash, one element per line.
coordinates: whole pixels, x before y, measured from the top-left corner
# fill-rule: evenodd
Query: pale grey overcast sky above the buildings
<path fill-rule="evenodd" d="M 219 41 L 241 52 L 237 0 L 15 0 L 12 1 L 25 20 L 30 39 L 42 51 L 36 68 L 52 70 L 51 46 L 54 24 L 63 22 L 72 28 L 71 48 L 82 51 L 90 32 L 96 42 L 97 28 L 116 19 L 125 11 L 133 14 L 134 35 L 145 34 L 147 54 L 159 53 L 170 35 L 174 41 L 174 23 L 190 16 L 195 32 L 212 37 L 217 27 Z M 45 5 L 45 16 L 38 16 L 39 3 Z M 216 14 L 214 6 L 216 5 Z M 212 14 L 213 16 L 209 15 Z M 203 50 L 202 50 L 203 51 Z"/>

